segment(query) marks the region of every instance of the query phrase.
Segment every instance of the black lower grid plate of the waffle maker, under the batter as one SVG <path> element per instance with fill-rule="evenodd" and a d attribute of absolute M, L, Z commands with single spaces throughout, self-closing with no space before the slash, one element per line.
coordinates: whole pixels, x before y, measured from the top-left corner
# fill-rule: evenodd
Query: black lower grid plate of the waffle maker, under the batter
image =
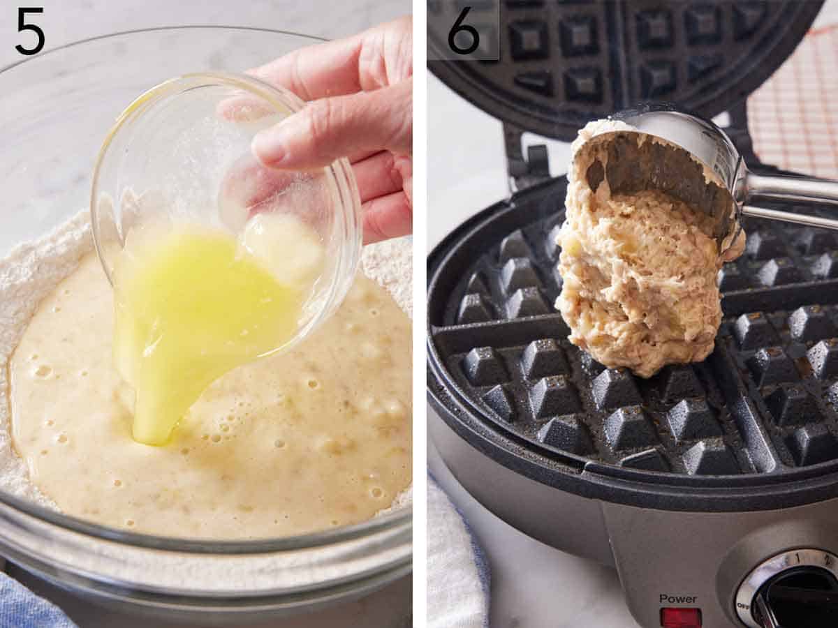
<path fill-rule="evenodd" d="M 649 471 L 764 473 L 838 458 L 835 234 L 746 224 L 747 252 L 719 274 L 716 350 L 644 380 L 567 342 L 552 306 L 563 210 L 546 214 L 473 263 L 435 328 L 478 409 L 547 450 Z"/>

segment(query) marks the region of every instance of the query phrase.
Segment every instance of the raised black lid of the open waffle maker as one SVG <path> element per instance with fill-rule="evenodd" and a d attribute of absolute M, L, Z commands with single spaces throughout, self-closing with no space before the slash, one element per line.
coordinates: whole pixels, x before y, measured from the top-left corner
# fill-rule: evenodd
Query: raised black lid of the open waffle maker
<path fill-rule="evenodd" d="M 429 12 L 445 2 L 429 3 Z M 432 72 L 499 120 L 570 142 L 587 121 L 645 100 L 716 116 L 773 74 L 822 2 L 454 4 L 470 6 L 465 23 L 492 23 L 499 11 L 499 60 L 431 61 Z M 429 24 L 433 53 L 447 37 Z"/>

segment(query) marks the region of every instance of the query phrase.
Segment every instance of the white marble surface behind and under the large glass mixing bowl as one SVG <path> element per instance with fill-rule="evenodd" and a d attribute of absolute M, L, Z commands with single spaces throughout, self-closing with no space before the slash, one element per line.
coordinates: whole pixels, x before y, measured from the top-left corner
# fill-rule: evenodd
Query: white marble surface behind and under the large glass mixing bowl
<path fill-rule="evenodd" d="M 38 23 L 46 34 L 45 50 L 63 44 L 108 33 L 137 28 L 175 26 L 187 24 L 209 24 L 226 26 L 251 26 L 275 28 L 297 33 L 306 33 L 325 38 L 337 38 L 359 32 L 375 23 L 384 22 L 400 15 L 411 13 L 410 0 L 389 0 L 386 3 L 375 0 L 42 0 L 39 3 L 2 3 L 0 8 L 0 67 L 12 64 L 21 55 L 14 44 L 32 42 L 18 36 L 17 7 L 20 5 L 43 6 L 44 14 L 30 18 Z M 30 37 L 28 34 L 27 37 Z M 137 52 L 137 51 L 132 51 Z M 135 57 L 137 54 L 134 55 Z M 270 59 L 264 59 L 265 61 Z M 232 61 L 235 64 L 235 60 Z M 11 95 L 13 97 L 13 95 Z M 0 95 L 0 106 L 3 95 Z M 73 168 L 77 167 L 72 155 L 69 159 L 56 160 L 51 177 L 56 181 L 65 177 L 78 178 Z M 63 170 L 62 170 L 63 168 Z M 8 226 L 8 225 L 7 225 Z M 40 583 L 21 570 L 8 567 L 8 571 L 19 577 L 41 595 L 46 595 L 61 605 L 80 628 L 111 628 L 112 626 L 155 625 L 166 628 L 158 621 L 131 617 L 122 613 L 103 611 L 73 595 L 68 595 Z M 347 628 L 347 626 L 375 626 L 375 628 L 402 628 L 411 612 L 411 579 L 405 578 L 391 586 L 348 605 L 340 605 L 312 615 L 297 616 L 269 625 L 287 628 Z M 180 624 L 184 626 L 183 624 Z M 189 626 L 186 626 L 189 628 Z M 197 628 L 197 627 L 196 627 Z"/>

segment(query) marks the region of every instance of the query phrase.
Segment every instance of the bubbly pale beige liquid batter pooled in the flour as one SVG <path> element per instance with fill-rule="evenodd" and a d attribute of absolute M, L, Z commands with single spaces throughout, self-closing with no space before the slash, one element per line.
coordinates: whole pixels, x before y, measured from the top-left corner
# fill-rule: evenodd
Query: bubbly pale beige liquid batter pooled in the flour
<path fill-rule="evenodd" d="M 278 537 L 364 521 L 410 485 L 410 322 L 363 275 L 297 347 L 210 384 L 160 447 L 132 440 L 112 330 L 90 254 L 9 364 L 13 444 L 63 512 L 165 536 Z"/>

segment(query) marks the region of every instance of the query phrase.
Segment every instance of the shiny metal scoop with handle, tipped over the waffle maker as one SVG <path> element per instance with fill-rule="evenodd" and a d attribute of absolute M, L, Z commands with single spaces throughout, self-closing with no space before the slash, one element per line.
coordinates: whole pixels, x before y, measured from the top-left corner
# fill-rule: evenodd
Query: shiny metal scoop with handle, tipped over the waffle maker
<path fill-rule="evenodd" d="M 611 119 L 634 128 L 604 131 L 588 141 L 602 143 L 608 151 L 604 168 L 597 160 L 587 169 L 591 188 L 607 177 L 613 193 L 658 189 L 680 198 L 712 217 L 713 235 L 722 252 L 736 239 L 743 215 L 838 229 L 838 181 L 754 174 L 722 129 L 670 106 L 620 111 Z M 664 142 L 654 138 L 638 142 L 637 133 Z M 836 218 L 746 204 L 757 197 L 825 203 Z"/>

